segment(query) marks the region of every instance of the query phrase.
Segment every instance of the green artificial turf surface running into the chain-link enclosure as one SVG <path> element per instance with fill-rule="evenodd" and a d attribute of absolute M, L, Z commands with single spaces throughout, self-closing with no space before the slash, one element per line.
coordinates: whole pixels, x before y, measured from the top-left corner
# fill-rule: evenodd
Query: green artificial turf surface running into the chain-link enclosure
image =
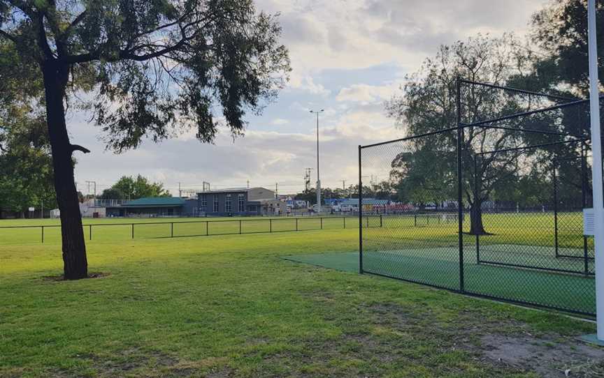
<path fill-rule="evenodd" d="M 593 276 L 476 264 L 473 250 L 464 253 L 464 291 L 542 305 L 561 310 L 596 312 Z M 459 290 L 459 254 L 456 248 L 364 252 L 364 271 Z M 287 256 L 294 262 L 339 271 L 358 272 L 358 252 Z"/>

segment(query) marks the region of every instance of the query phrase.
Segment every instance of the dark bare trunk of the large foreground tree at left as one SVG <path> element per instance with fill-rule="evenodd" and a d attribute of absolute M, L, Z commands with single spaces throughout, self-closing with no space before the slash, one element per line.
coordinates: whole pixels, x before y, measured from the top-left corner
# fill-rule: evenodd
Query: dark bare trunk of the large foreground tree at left
<path fill-rule="evenodd" d="M 55 191 L 61 211 L 64 278 L 78 280 L 88 276 L 88 262 L 78 192 L 73 179 L 73 147 L 69 142 L 63 105 L 69 71 L 66 66 L 54 60 L 45 61 L 42 71 Z"/>

